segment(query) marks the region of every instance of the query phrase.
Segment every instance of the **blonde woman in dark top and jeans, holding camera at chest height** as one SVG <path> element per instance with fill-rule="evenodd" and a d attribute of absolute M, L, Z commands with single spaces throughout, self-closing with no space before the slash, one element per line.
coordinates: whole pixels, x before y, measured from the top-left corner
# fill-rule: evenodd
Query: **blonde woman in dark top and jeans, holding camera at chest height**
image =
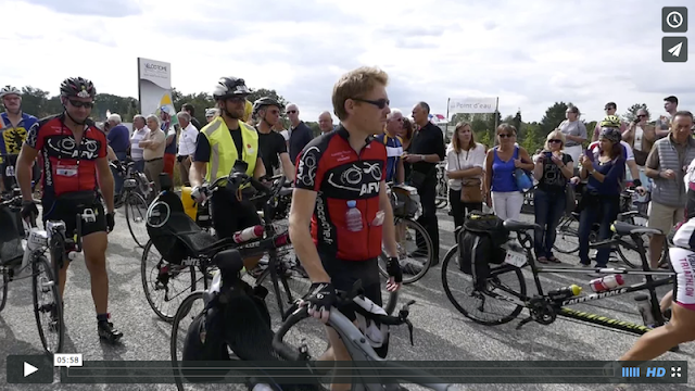
<path fill-rule="evenodd" d="M 567 181 L 574 173 L 574 161 L 563 152 L 565 134 L 553 130 L 547 135 L 543 152 L 535 157 L 533 176 L 539 185 L 533 194 L 535 224 L 542 229 L 535 230 L 535 257 L 540 263 L 559 261 L 553 255 L 555 229 L 565 213 Z"/>

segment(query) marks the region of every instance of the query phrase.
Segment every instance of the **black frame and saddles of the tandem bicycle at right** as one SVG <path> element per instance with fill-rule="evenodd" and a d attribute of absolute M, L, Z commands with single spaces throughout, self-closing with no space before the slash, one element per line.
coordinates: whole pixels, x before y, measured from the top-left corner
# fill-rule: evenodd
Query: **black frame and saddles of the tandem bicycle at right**
<path fill-rule="evenodd" d="M 581 312 L 581 311 L 576 311 L 576 310 L 570 310 L 565 307 L 566 305 L 572 305 L 572 304 L 579 304 L 579 303 L 586 303 L 590 301 L 596 301 L 596 300 L 602 300 L 602 299 L 606 299 L 606 298 L 612 298 L 612 297 L 618 297 L 618 295 L 622 295 L 626 293 L 632 293 L 632 292 L 637 292 L 637 291 L 644 291 L 647 290 L 649 292 L 649 300 L 650 300 L 650 307 L 652 307 L 652 313 L 654 316 L 654 319 L 656 321 L 656 327 L 658 326 L 662 326 L 665 324 L 665 319 L 664 316 L 661 314 L 661 311 L 659 308 L 659 301 L 657 299 L 656 295 L 656 288 L 657 287 L 661 287 L 661 286 L 667 286 L 670 283 L 673 283 L 673 273 L 672 272 L 653 272 L 649 269 L 648 266 L 648 262 L 646 258 L 646 251 L 644 248 L 644 243 L 642 241 L 642 238 L 640 237 L 640 235 L 629 235 L 629 237 L 631 237 L 631 239 L 634 241 L 634 243 L 630 243 L 624 241 L 621 237 L 619 236 L 614 236 L 614 238 L 608 239 L 608 240 L 604 240 L 602 242 L 595 243 L 595 247 L 610 247 L 610 245 L 622 245 L 626 247 L 628 249 L 631 250 L 635 250 L 640 253 L 640 257 L 642 260 L 642 270 L 634 270 L 634 269 L 626 269 L 626 268 L 594 268 L 593 270 L 595 270 L 596 273 L 606 273 L 606 274 L 624 274 L 624 275 L 644 275 L 645 276 L 645 280 L 644 282 L 639 282 L 639 283 L 633 283 L 631 286 L 622 286 L 622 287 L 618 287 L 618 288 L 614 288 L 610 290 L 607 290 L 605 292 L 601 292 L 601 293 L 592 293 L 589 295 L 580 295 L 580 297 L 574 297 L 574 298 L 569 298 L 569 299 L 552 299 L 548 298 L 546 293 L 543 292 L 543 286 L 541 283 L 541 279 L 540 279 L 540 274 L 542 273 L 586 273 L 587 269 L 586 268 L 577 268 L 577 267 L 545 267 L 545 266 L 538 266 L 535 263 L 535 257 L 533 256 L 532 253 L 532 249 L 533 249 L 533 240 L 531 235 L 529 235 L 527 231 L 518 231 L 519 234 L 519 242 L 521 243 L 521 247 L 525 249 L 526 252 L 526 256 L 527 256 L 527 264 L 522 267 L 526 267 L 527 265 L 531 267 L 531 272 L 533 274 L 533 281 L 535 283 L 535 289 L 538 291 L 538 294 L 540 297 L 542 297 L 543 299 L 547 300 L 551 305 L 557 310 L 557 315 L 559 316 L 564 316 L 564 317 L 568 317 L 568 318 L 573 318 L 583 323 L 587 323 L 587 324 L 593 324 L 593 325 L 597 325 L 597 326 L 604 326 L 607 328 L 611 328 L 611 329 L 616 329 L 616 330 L 621 330 L 621 331 L 627 331 L 627 332 L 631 332 L 637 336 L 641 336 L 649 330 L 652 330 L 652 328 L 646 327 L 646 326 L 642 326 L 642 325 L 636 325 L 630 321 L 624 321 L 624 320 L 618 320 L 618 319 L 614 319 L 614 318 L 609 318 L 606 316 L 602 316 L 602 315 L 596 315 L 596 314 L 591 314 L 591 313 L 585 313 L 585 312 Z M 517 268 L 516 266 L 513 265 L 508 265 L 505 264 L 503 266 L 500 267 L 495 267 L 490 272 L 490 277 L 503 274 L 503 273 L 507 273 L 510 270 L 514 270 L 515 268 Z M 592 270 L 592 269 L 589 269 Z M 658 275 L 658 276 L 668 276 L 668 278 L 661 278 L 658 280 L 655 280 L 652 276 L 653 275 Z M 489 277 L 489 278 L 490 278 Z M 525 306 L 527 308 L 530 308 L 530 302 L 534 299 L 528 295 L 522 295 L 520 293 L 514 292 L 509 289 L 504 289 L 502 288 L 505 292 L 511 294 L 513 297 L 506 297 L 503 294 L 497 294 L 494 292 L 486 292 L 488 294 L 492 294 L 492 295 L 496 295 L 500 299 L 509 301 L 511 303 Z M 555 319 L 553 318 L 549 323 L 553 323 Z M 547 324 L 549 324 L 547 323 Z M 521 325 L 519 325 L 519 327 L 521 327 L 523 325 L 523 323 Z"/>

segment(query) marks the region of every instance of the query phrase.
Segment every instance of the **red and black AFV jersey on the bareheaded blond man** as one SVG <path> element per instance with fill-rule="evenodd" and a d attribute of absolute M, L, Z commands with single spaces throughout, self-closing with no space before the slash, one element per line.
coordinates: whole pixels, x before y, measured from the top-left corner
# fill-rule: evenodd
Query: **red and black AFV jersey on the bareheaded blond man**
<path fill-rule="evenodd" d="M 340 126 L 307 143 L 296 159 L 294 186 L 317 192 L 312 238 L 318 252 L 344 261 L 367 261 L 381 254 L 382 224 L 375 223 L 375 217 L 387 149 L 369 137 L 357 153 L 350 147 L 349 137 Z M 345 225 L 351 200 L 362 213 L 363 229 L 357 232 Z"/>

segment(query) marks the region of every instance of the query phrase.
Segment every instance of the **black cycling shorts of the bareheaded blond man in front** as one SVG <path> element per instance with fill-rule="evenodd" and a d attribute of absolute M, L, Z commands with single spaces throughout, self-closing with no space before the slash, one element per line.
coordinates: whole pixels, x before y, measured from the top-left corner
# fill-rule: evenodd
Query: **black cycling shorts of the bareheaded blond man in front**
<path fill-rule="evenodd" d="M 379 278 L 379 262 L 377 258 L 368 261 L 342 261 L 334 256 L 319 254 L 324 269 L 330 276 L 330 281 L 337 290 L 352 291 L 353 285 L 362 280 L 362 288 L 367 299 L 378 306 L 382 306 L 381 280 Z M 350 320 L 355 321 L 353 305 L 338 307 Z"/>

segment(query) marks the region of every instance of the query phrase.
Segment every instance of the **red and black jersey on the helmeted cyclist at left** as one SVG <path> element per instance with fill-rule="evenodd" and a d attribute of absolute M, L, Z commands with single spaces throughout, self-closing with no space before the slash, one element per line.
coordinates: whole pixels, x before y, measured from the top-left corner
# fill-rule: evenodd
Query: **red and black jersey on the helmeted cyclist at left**
<path fill-rule="evenodd" d="M 98 188 L 97 160 L 106 157 L 106 136 L 93 122 L 87 122 L 77 144 L 64 114 L 53 115 L 31 126 L 25 142 L 39 151 L 43 201 Z"/>

